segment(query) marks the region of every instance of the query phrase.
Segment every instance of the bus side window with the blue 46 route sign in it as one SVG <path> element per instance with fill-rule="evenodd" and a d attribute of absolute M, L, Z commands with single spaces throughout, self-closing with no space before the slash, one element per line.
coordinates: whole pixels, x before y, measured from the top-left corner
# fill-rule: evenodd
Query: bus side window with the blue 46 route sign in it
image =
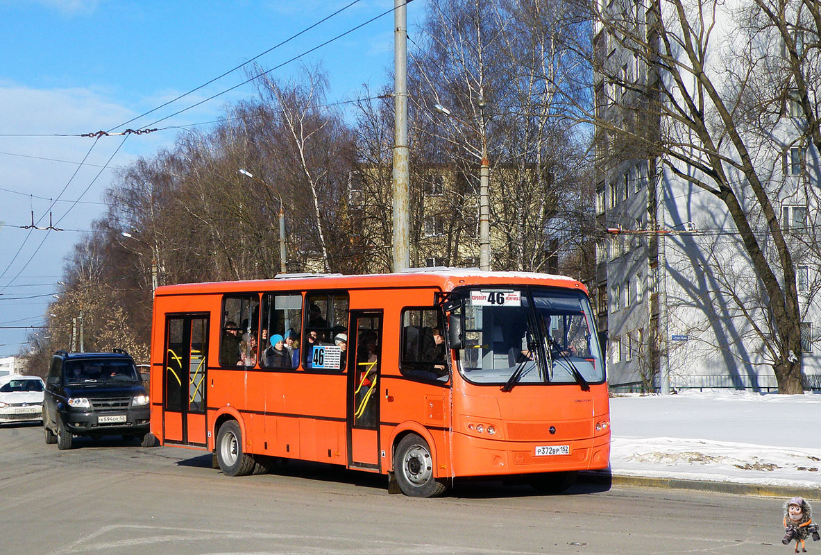
<path fill-rule="evenodd" d="M 334 338 L 348 332 L 347 291 L 321 291 L 305 295 L 305 327 L 300 355 L 304 368 L 314 367 L 314 346 L 333 346 Z M 323 369 L 339 369 L 336 367 Z"/>

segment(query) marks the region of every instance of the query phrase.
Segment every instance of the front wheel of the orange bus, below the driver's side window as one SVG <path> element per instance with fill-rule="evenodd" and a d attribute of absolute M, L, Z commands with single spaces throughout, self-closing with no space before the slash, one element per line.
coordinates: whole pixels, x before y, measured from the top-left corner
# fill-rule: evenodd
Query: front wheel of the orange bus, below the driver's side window
<path fill-rule="evenodd" d="M 428 443 L 415 433 L 401 439 L 393 454 L 393 472 L 402 493 L 412 498 L 435 498 L 447 486 L 433 477 L 433 457 Z"/>

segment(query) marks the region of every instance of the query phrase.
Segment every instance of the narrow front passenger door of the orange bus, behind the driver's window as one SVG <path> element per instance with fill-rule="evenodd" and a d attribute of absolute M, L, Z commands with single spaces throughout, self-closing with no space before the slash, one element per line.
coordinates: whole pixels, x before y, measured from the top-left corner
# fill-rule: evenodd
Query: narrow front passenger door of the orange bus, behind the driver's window
<path fill-rule="evenodd" d="M 351 310 L 348 333 L 348 466 L 379 469 L 382 310 Z"/>

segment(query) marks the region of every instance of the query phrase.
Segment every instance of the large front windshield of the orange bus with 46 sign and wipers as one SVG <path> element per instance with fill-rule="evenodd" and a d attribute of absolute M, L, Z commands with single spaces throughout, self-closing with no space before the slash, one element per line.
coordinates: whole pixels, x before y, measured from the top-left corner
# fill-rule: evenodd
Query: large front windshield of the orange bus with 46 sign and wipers
<path fill-rule="evenodd" d="M 581 291 L 487 287 L 461 291 L 465 342 L 461 374 L 471 383 L 603 383 L 604 365 L 589 300 Z"/>

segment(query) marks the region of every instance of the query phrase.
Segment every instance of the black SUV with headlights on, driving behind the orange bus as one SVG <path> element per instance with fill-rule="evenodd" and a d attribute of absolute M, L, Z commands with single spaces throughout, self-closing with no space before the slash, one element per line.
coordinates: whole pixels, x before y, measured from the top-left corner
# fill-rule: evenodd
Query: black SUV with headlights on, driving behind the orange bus
<path fill-rule="evenodd" d="M 76 435 L 122 434 L 153 447 L 149 418 L 148 392 L 126 351 L 54 353 L 43 400 L 46 443 L 71 449 Z"/>

